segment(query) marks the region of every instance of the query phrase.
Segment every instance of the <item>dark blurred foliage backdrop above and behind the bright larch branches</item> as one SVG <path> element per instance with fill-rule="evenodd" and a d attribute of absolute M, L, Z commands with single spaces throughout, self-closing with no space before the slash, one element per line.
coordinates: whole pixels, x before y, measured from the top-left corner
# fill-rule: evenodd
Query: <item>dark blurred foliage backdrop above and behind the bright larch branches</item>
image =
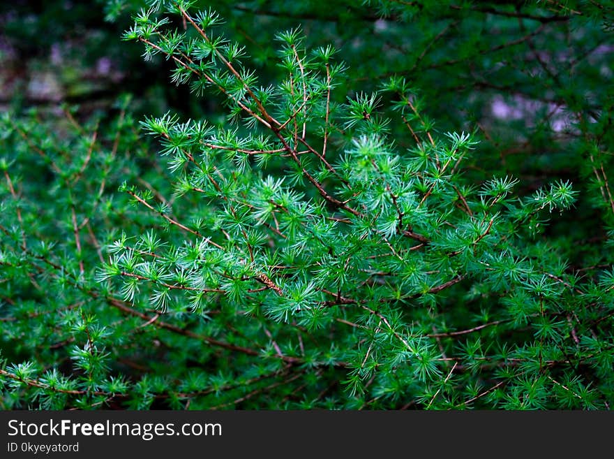
<path fill-rule="evenodd" d="M 390 75 L 403 76 L 437 131 L 481 132 L 477 176 L 505 170 L 521 175 L 527 190 L 551 176 L 590 177 L 587 144 L 599 138 L 611 145 L 610 3 L 195 1 L 225 18 L 220 33 L 246 47 L 263 85 L 282 71 L 271 65 L 274 35 L 301 27 L 308 48 L 333 43 L 340 50 L 349 73 L 339 94 L 369 92 Z M 1 106 L 67 102 L 91 112 L 129 92 L 137 115 L 168 108 L 186 117 L 218 114 L 214 96 L 203 103 L 187 87 L 169 85 L 169 62 L 144 63 L 137 44 L 121 41 L 130 15 L 144 6 L 143 0 L 3 3 Z"/>

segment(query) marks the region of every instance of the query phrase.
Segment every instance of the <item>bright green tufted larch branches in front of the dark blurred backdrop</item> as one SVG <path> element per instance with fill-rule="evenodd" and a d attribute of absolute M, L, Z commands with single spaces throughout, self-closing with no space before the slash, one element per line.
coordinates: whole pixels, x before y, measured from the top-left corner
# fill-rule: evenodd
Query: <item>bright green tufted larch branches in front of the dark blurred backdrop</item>
<path fill-rule="evenodd" d="M 261 78 L 192 3 L 123 38 L 224 118 L 2 119 L 3 408 L 609 409 L 614 271 L 544 229 L 575 184 L 475 180 L 403 75 L 348 89 L 296 27 Z"/>

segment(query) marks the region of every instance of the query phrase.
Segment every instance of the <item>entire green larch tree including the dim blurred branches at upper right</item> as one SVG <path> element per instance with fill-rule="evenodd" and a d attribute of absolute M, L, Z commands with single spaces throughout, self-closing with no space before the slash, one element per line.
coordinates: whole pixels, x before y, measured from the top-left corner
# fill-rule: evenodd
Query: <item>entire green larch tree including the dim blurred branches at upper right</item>
<path fill-rule="evenodd" d="M 195 3 L 1 119 L 4 409 L 609 409 L 610 3 Z"/>

